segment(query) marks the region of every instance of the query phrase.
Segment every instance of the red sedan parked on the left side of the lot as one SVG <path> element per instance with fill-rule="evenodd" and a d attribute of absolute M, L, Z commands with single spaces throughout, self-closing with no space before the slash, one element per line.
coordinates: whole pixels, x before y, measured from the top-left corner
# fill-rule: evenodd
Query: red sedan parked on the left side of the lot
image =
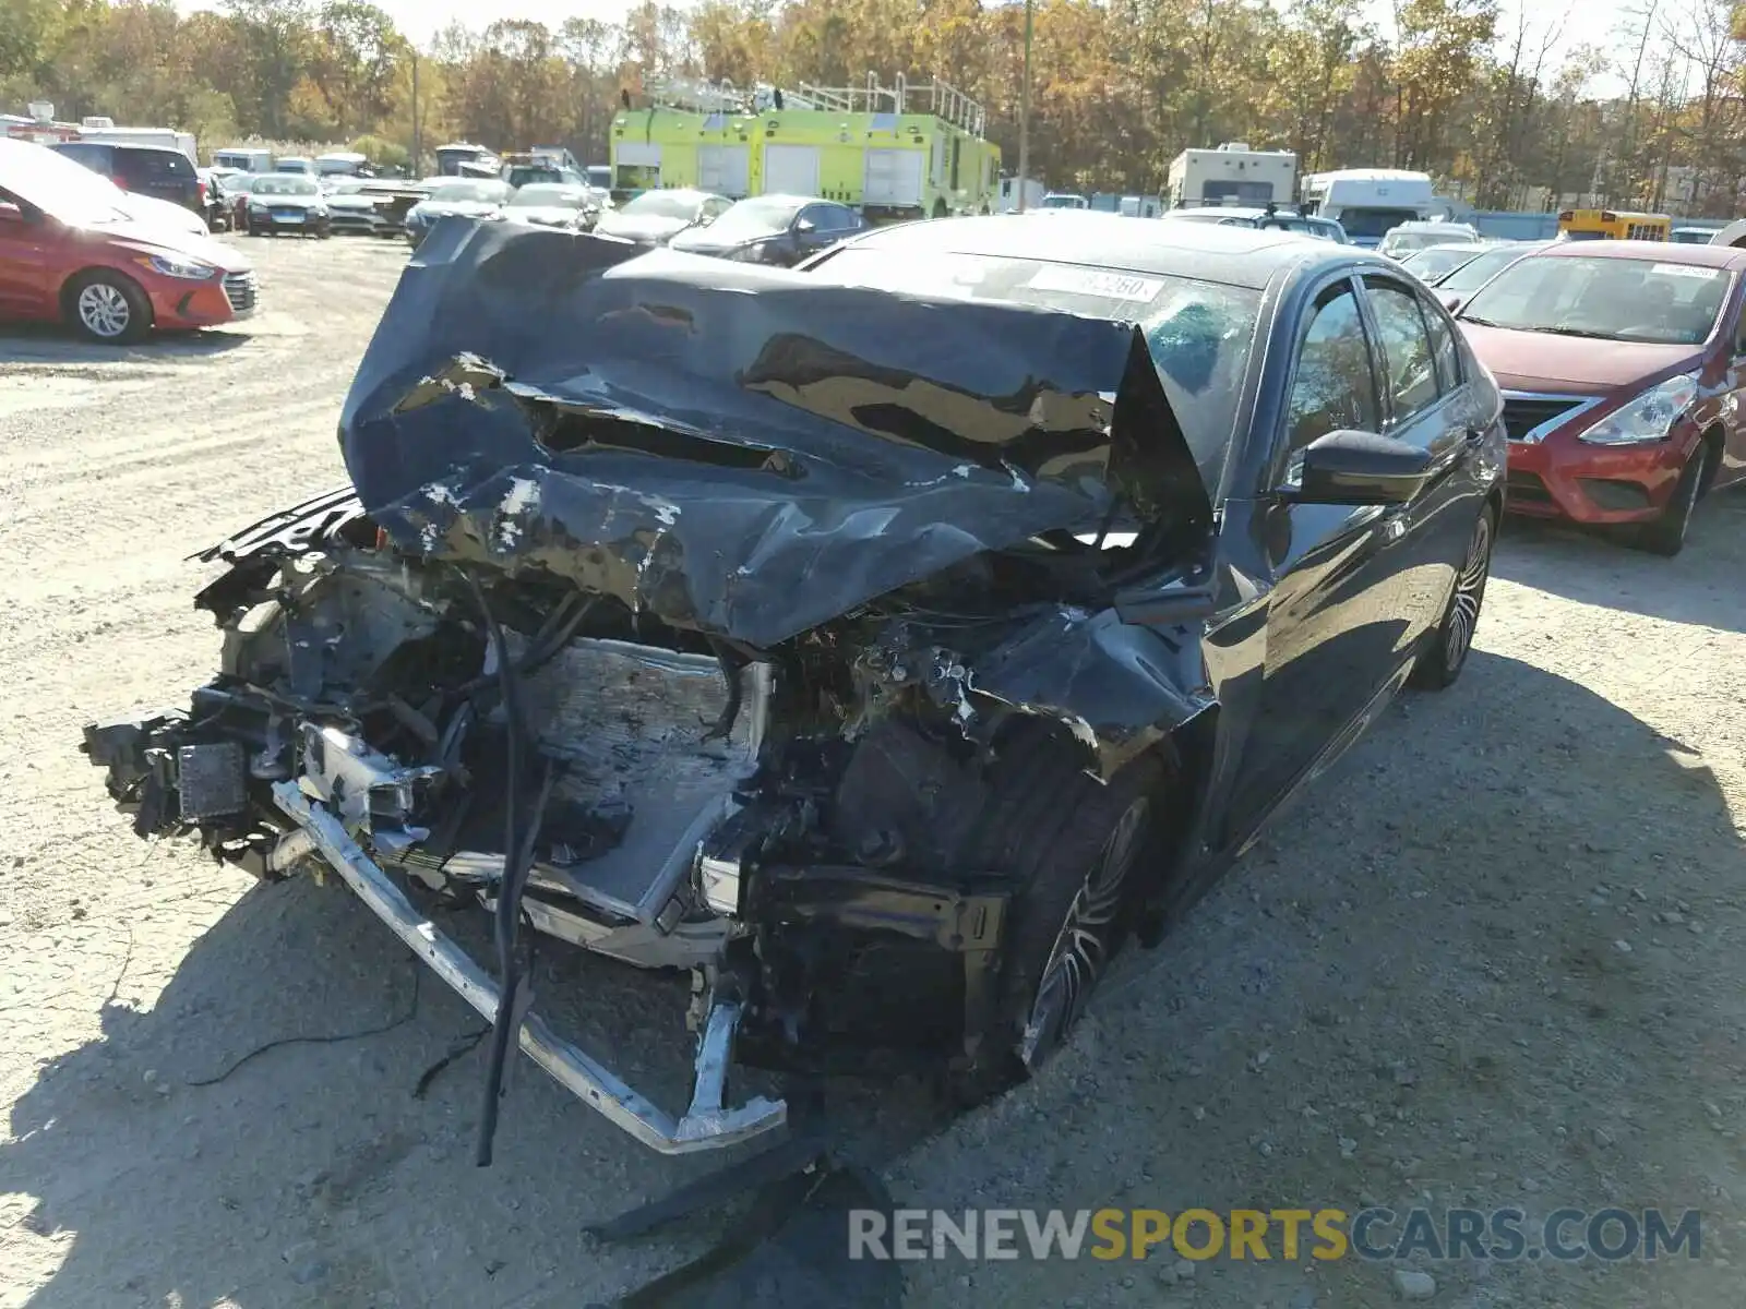
<path fill-rule="evenodd" d="M 0 319 L 61 321 L 119 344 L 255 311 L 248 260 L 206 236 L 129 216 L 115 187 L 28 141 L 0 140 Z"/>

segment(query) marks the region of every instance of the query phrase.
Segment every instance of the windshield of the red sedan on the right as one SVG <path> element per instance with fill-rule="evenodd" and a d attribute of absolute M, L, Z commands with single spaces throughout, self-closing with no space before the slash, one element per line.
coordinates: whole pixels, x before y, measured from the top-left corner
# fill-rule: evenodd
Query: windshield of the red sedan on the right
<path fill-rule="evenodd" d="M 1727 290 L 1727 269 L 1540 255 L 1500 272 L 1467 302 L 1461 318 L 1519 332 L 1699 346 L 1709 339 Z"/>

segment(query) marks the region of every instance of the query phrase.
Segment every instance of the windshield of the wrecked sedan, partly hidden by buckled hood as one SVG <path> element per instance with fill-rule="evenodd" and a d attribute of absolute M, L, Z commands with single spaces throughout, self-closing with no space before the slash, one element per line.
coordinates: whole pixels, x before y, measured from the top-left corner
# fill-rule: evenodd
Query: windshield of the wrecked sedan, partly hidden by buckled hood
<path fill-rule="evenodd" d="M 1236 400 L 1261 314 L 1259 291 L 1198 278 L 859 244 L 819 264 L 814 276 L 847 286 L 1000 300 L 1138 323 L 1194 463 L 1208 487 L 1217 483 L 1236 428 Z"/>

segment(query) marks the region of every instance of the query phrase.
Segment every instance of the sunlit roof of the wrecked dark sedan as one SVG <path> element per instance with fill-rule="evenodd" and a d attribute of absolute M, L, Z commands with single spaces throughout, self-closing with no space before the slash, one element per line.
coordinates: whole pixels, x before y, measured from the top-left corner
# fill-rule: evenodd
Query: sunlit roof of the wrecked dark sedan
<path fill-rule="evenodd" d="M 1280 229 L 1161 223 L 1096 209 L 1063 211 L 1048 223 L 1034 223 L 1020 213 L 929 218 L 875 229 L 864 237 L 854 237 L 847 248 L 1090 264 L 1254 290 L 1264 288 L 1276 272 L 1294 264 L 1360 257 L 1351 246 L 1310 241 Z M 1369 258 L 1392 267 L 1379 255 Z"/>

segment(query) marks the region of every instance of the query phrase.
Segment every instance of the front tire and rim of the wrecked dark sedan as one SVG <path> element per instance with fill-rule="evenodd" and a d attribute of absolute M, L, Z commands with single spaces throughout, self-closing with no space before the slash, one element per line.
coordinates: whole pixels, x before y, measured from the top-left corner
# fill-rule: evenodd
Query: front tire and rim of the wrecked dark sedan
<path fill-rule="evenodd" d="M 1041 724 L 1039 724 L 1041 726 Z M 1161 812 L 1163 770 L 1145 757 L 1109 784 L 1060 733 L 1014 728 L 992 770 L 971 859 L 1020 887 L 1006 923 L 993 1021 L 952 1075 L 973 1105 L 1023 1082 L 1084 1014 L 1130 929 L 1135 869 Z"/>

